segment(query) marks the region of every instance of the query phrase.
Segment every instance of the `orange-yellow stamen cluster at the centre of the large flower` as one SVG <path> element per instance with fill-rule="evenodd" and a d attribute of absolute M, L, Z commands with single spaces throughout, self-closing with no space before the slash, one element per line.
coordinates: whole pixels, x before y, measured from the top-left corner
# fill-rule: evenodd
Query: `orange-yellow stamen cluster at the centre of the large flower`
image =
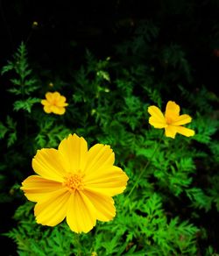
<path fill-rule="evenodd" d="M 83 189 L 81 174 L 67 174 L 62 184 L 71 192 Z"/>

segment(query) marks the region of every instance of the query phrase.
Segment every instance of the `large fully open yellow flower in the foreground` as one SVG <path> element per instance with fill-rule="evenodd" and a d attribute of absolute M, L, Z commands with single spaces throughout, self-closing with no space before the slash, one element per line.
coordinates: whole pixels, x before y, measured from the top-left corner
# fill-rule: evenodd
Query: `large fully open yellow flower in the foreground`
<path fill-rule="evenodd" d="M 29 176 L 21 187 L 36 202 L 37 223 L 54 226 L 66 217 L 70 229 L 80 233 L 90 231 L 96 220 L 115 217 L 112 196 L 124 191 L 129 178 L 114 160 L 110 146 L 96 144 L 88 150 L 76 134 L 63 139 L 58 150 L 39 150 L 32 160 L 39 175 Z"/>

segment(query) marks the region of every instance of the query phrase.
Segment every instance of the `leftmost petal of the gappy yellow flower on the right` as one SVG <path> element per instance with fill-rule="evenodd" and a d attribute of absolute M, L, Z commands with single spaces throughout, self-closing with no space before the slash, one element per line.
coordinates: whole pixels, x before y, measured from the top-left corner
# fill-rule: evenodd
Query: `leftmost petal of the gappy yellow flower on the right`
<path fill-rule="evenodd" d="M 155 128 L 164 128 L 166 126 L 165 117 L 158 107 L 150 106 L 148 113 L 152 116 L 149 118 L 149 124 L 152 124 Z"/>

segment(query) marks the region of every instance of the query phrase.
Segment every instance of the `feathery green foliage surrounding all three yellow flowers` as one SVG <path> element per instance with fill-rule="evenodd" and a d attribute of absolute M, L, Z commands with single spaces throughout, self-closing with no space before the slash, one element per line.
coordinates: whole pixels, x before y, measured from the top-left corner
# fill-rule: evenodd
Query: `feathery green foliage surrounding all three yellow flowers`
<path fill-rule="evenodd" d="M 2 75 L 10 75 L 13 107 L 0 122 L 1 153 L 8 150 L 0 163 L 0 194 L 9 202 L 11 195 L 20 200 L 14 215 L 17 226 L 4 234 L 14 240 L 18 255 L 196 255 L 203 240 L 206 255 L 216 252 L 201 214 L 219 211 L 214 110 L 218 98 L 204 86 L 197 96 L 177 84 L 183 76 L 188 83 L 193 81 L 187 53 L 178 44 L 158 51 L 153 46 L 158 36 L 158 25 L 139 22 L 134 38 L 117 46 L 116 60 L 99 60 L 87 50 L 83 65 L 70 68 L 65 81 L 57 75 L 59 84 L 51 88 L 42 87 L 44 70 L 37 73 L 30 68 L 24 43 L 2 68 Z M 154 65 L 158 58 L 161 71 Z M 176 84 L 167 88 L 169 82 Z M 56 90 L 67 97 L 63 116 L 46 114 L 40 104 L 46 91 Z M 195 135 L 170 139 L 148 124 L 147 108 L 157 105 L 164 110 L 166 98 L 174 100 L 179 91 L 180 111 L 193 117 L 187 127 Z M 65 221 L 55 227 L 37 224 L 34 203 L 24 203 L 18 189 L 33 174 L 36 151 L 57 148 L 74 132 L 89 146 L 109 144 L 117 166 L 129 176 L 124 194 L 114 198 L 116 217 L 97 222 L 80 236 Z"/>

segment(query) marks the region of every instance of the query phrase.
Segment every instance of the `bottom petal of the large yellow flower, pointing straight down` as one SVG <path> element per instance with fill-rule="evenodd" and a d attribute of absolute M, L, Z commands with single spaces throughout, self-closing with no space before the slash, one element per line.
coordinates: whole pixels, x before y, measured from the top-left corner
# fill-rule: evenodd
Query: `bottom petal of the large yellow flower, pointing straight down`
<path fill-rule="evenodd" d="M 86 196 L 75 191 L 67 205 L 67 224 L 76 233 L 90 231 L 96 223 L 95 207 Z"/>

